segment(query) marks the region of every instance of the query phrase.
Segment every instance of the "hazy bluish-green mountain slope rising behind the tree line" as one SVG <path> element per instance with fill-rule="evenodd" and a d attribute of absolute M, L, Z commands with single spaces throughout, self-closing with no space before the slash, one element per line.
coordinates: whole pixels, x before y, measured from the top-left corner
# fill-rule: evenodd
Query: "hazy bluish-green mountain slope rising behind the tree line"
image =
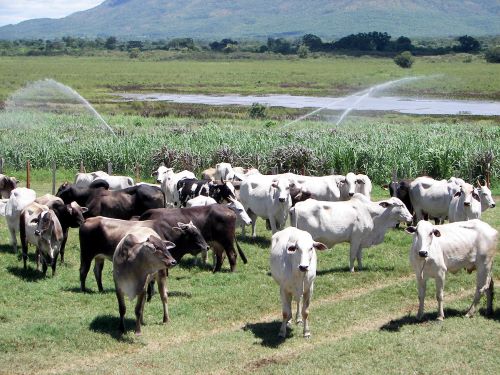
<path fill-rule="evenodd" d="M 367 31 L 393 37 L 499 35 L 498 0 L 107 0 L 61 19 L 0 28 L 0 39 L 71 36 L 265 38 Z"/>

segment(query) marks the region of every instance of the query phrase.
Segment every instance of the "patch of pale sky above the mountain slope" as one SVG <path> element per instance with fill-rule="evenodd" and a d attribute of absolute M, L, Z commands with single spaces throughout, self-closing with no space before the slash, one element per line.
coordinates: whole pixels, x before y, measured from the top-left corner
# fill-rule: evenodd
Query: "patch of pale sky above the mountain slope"
<path fill-rule="evenodd" d="M 104 0 L 0 0 L 0 26 L 32 18 L 61 18 Z"/>

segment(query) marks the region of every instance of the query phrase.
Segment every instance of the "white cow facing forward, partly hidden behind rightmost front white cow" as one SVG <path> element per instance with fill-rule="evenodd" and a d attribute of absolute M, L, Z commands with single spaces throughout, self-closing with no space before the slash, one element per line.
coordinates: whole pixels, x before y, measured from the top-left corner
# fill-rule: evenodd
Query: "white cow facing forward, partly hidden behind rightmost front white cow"
<path fill-rule="evenodd" d="M 477 189 L 471 184 L 460 185 L 460 190 L 451 198 L 448 208 L 448 220 L 467 221 L 481 218 L 481 198 Z"/>

